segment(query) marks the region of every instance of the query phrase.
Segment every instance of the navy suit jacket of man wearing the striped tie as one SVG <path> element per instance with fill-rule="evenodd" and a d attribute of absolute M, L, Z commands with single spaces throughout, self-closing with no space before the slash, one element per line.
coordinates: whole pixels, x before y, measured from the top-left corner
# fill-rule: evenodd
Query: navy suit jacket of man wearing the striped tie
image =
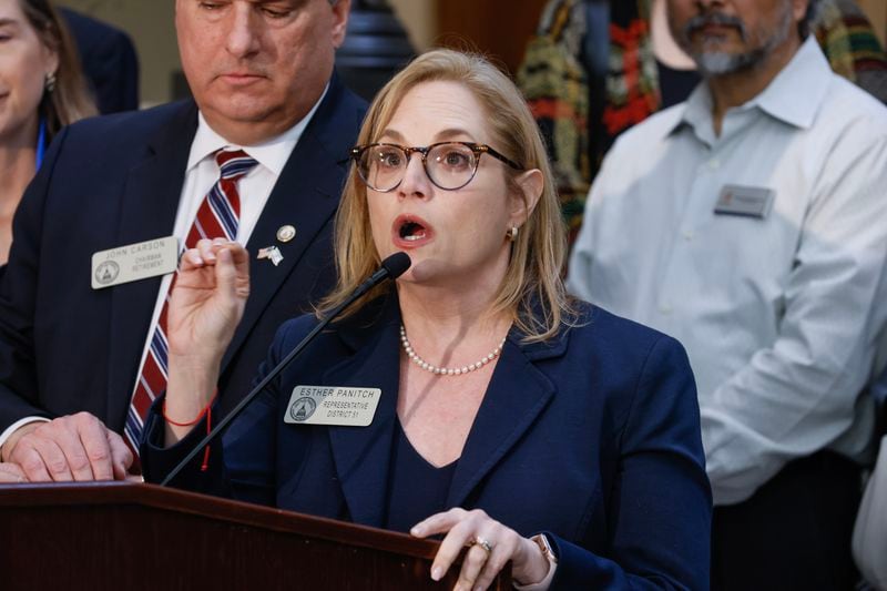
<path fill-rule="evenodd" d="M 246 245 L 252 293 L 223 361 L 223 409 L 249 390 L 279 325 L 334 284 L 333 217 L 365 110 L 334 77 L 272 191 Z M 186 101 L 81 121 L 52 143 L 0 277 L 0 432 L 81 410 L 122 432 L 161 277 L 94 291 L 91 257 L 172 234 L 196 129 Z M 279 243 L 284 224 L 297 233 Z M 279 266 L 255 261 L 271 245 Z"/>

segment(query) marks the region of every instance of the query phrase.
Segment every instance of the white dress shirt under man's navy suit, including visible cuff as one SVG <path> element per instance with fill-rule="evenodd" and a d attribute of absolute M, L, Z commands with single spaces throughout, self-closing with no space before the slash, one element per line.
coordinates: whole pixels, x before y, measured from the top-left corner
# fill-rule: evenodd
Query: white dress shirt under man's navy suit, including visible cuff
<path fill-rule="evenodd" d="M 194 135 L 194 141 L 191 143 L 191 152 L 187 159 L 187 167 L 185 170 L 185 181 L 182 184 L 182 195 L 179 200 L 179 210 L 175 214 L 175 224 L 173 225 L 172 235 L 179 238 L 180 248 L 184 248 L 185 238 L 197 215 L 197 210 L 203 202 L 206 193 L 210 192 L 212 186 L 218 180 L 220 170 L 215 162 L 214 154 L 217 150 L 230 147 L 231 150 L 243 150 L 251 157 L 258 162 L 249 173 L 242 177 L 237 183 L 237 192 L 241 197 L 241 217 L 237 225 L 237 242 L 245 245 L 249 241 L 249 235 L 258 222 L 262 210 L 265 207 L 274 184 L 281 176 L 284 166 L 286 165 L 289 155 L 296 147 L 302 133 L 308 126 L 314 113 L 326 96 L 327 85 L 323 94 L 314 104 L 312 110 L 298 123 L 293 125 L 289 130 L 273 137 L 266 142 L 257 145 L 238 145 L 233 144 L 217 134 L 203 116 L 203 113 L 197 113 L 197 132 Z M 157 236 L 161 237 L 161 236 Z M 249 253 L 252 256 L 255 253 Z M 141 373 L 142 365 L 144 365 L 145 356 L 151 345 L 151 337 L 157 326 L 163 302 L 166 297 L 166 292 L 170 289 L 173 274 L 166 275 L 161 282 L 160 289 L 157 291 L 157 298 L 154 304 L 154 313 L 151 316 L 151 327 L 145 335 L 145 344 L 142 348 L 142 357 L 139 361 L 139 371 Z M 135 376 L 133 383 L 133 391 L 135 385 L 139 383 L 139 375 Z M 42 417 L 24 417 L 12 425 L 10 425 L 2 434 L 0 434 L 0 447 L 6 444 L 7 439 L 19 428 L 29 422 L 45 421 L 48 419 Z"/>

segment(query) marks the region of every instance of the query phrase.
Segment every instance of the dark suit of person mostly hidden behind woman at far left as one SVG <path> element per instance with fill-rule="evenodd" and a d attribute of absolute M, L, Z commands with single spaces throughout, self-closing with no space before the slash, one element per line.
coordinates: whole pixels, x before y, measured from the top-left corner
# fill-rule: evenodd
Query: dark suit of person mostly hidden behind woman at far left
<path fill-rule="evenodd" d="M 74 38 L 99 112 L 139 109 L 139 58 L 130 35 L 70 8 L 59 7 L 59 13 Z"/>

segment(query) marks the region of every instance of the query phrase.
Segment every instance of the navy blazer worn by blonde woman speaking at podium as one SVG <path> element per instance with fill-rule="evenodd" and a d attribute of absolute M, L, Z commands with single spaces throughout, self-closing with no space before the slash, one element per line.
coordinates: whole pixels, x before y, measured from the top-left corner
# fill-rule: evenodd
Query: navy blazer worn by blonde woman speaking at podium
<path fill-rule="evenodd" d="M 384 524 L 400 367 L 400 315 L 387 299 L 322 333 L 232 424 L 211 469 L 200 471 L 200 454 L 174 486 Z M 686 355 L 665 335 L 583 306 L 582 325 L 549 343 L 523 344 L 512 328 L 447 506 L 481 508 L 523 536 L 550 532 L 560 559 L 552 589 L 707 589 L 712 498 Z M 261 374 L 315 322 L 285 324 Z M 284 424 L 296 385 L 383 394 L 369 427 Z M 161 480 L 203 435 L 205 425 L 163 450 L 163 419 L 152 414 L 145 477 Z"/>

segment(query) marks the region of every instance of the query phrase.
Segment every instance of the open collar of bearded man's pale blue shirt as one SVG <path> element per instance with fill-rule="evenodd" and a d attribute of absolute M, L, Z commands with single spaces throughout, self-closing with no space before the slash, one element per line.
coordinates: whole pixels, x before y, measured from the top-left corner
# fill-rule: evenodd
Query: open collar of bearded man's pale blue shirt
<path fill-rule="evenodd" d="M 776 78 L 757 96 L 740 106 L 758 108 L 774 119 L 796 128 L 813 125 L 828 90 L 832 68 L 814 35 L 809 35 Z M 671 132 L 686 124 L 694 129 L 710 124 L 712 95 L 708 84 L 700 83 L 684 103 L 684 112 Z"/>

